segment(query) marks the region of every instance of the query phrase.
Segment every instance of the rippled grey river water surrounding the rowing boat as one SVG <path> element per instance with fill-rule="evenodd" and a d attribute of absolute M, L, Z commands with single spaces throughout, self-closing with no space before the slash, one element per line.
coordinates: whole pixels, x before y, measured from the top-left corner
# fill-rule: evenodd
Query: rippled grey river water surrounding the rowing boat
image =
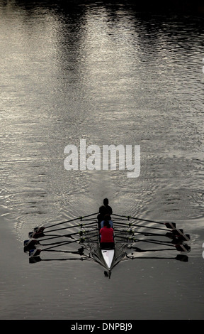
<path fill-rule="evenodd" d="M 0 318 L 203 319 L 203 12 L 68 5 L 0 1 Z M 64 147 L 80 139 L 140 145 L 140 177 L 67 171 Z M 176 222 L 188 263 L 121 262 L 109 280 L 94 262 L 28 263 L 33 227 L 104 197 L 120 215 Z"/>

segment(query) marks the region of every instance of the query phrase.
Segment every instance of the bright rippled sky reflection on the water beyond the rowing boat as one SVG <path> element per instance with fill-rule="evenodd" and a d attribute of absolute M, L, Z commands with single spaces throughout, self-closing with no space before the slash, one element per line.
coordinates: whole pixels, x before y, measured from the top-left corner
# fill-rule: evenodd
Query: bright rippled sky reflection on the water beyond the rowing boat
<path fill-rule="evenodd" d="M 200 233 L 203 16 L 120 2 L 0 2 L 0 199 L 21 241 L 106 196 L 114 212 Z M 80 139 L 140 145 L 140 177 L 66 171 Z"/>

